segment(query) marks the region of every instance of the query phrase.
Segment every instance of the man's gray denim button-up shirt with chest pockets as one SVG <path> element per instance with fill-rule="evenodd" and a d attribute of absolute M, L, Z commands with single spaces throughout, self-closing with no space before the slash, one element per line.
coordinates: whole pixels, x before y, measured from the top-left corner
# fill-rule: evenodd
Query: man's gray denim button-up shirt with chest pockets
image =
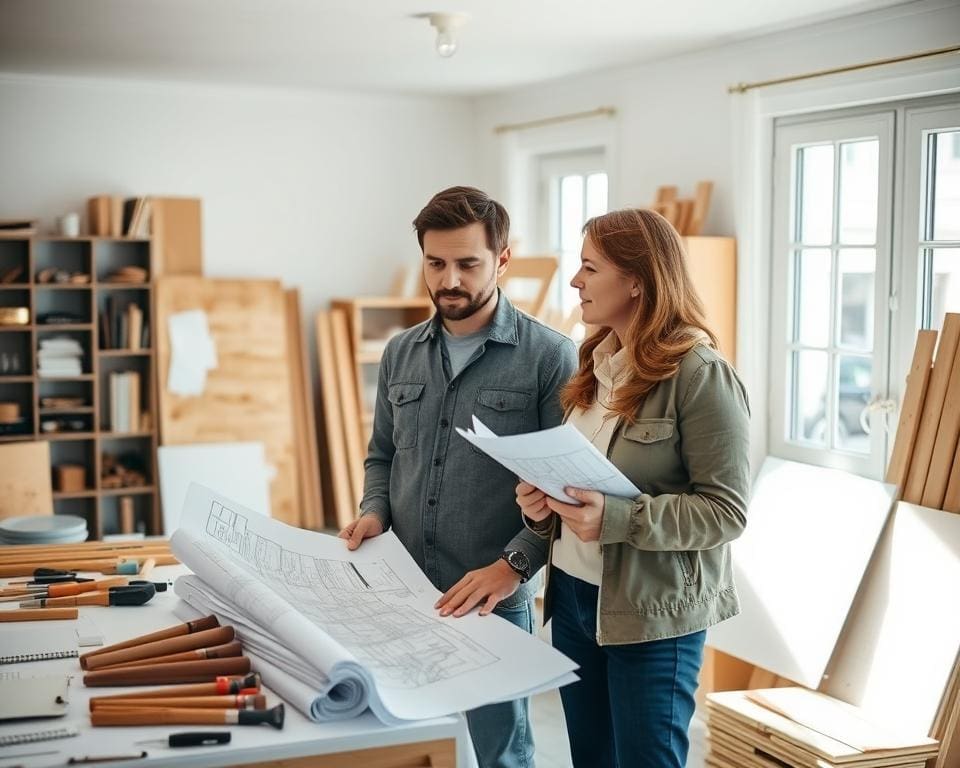
<path fill-rule="evenodd" d="M 555 427 L 560 389 L 576 366 L 573 342 L 502 292 L 486 338 L 456 377 L 438 315 L 387 344 L 360 509 L 393 529 L 438 589 L 504 550 L 524 552 L 533 573 L 546 562 L 547 542 L 523 525 L 517 477 L 454 427 L 471 427 L 474 415 L 498 435 Z M 535 590 L 531 580 L 501 605 Z"/>

